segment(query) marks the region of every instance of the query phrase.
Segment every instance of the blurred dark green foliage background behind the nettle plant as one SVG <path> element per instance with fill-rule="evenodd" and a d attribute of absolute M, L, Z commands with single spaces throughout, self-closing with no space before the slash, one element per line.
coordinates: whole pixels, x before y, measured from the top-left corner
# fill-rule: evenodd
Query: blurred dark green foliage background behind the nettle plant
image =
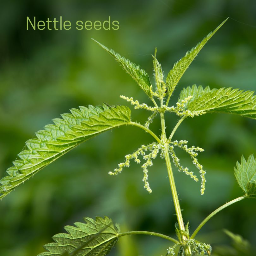
<path fill-rule="evenodd" d="M 38 20 L 59 16 L 76 20 L 118 20 L 116 31 L 26 30 L 26 16 Z M 97 46 L 94 38 L 140 64 L 152 77 L 151 53 L 157 47 L 165 74 L 226 17 L 230 19 L 206 44 L 175 91 L 186 86 L 254 90 L 256 84 L 256 2 L 223 0 L 147 1 L 2 1 L 0 8 L 0 174 L 11 166 L 25 141 L 51 119 L 78 106 L 125 104 L 119 95 L 147 101 L 130 76 Z M 132 110 L 144 123 L 144 110 Z M 159 119 L 157 119 L 159 121 Z M 167 117 L 167 131 L 177 122 Z M 151 128 L 159 134 L 159 124 Z M 198 160 L 207 171 L 206 192 L 177 173 L 175 178 L 184 220 L 191 232 L 211 211 L 242 195 L 233 175 L 241 155 L 255 153 L 256 122 L 227 114 L 185 120 L 175 139 L 205 149 Z M 124 155 L 151 137 L 136 127 L 101 134 L 46 167 L 0 202 L 0 255 L 29 256 L 43 251 L 51 236 L 82 217 L 107 215 L 123 231 L 148 230 L 174 235 L 174 206 L 162 159 L 149 169 L 153 189 L 143 189 L 142 169 L 131 164 L 118 176 L 107 173 Z M 183 157 L 181 152 L 178 152 Z M 184 156 L 183 165 L 192 169 Z M 196 171 L 196 170 L 195 170 Z M 256 243 L 255 200 L 244 200 L 213 217 L 198 234 L 215 255 L 232 254 L 226 228 Z M 156 237 L 122 237 L 109 255 L 155 256 L 170 244 Z M 223 248 L 228 248 L 223 254 Z M 233 251 L 232 251 L 233 250 Z M 219 253 L 218 253 L 219 252 Z M 222 254 L 221 254 L 222 252 Z M 253 255 L 253 254 L 250 254 Z"/>

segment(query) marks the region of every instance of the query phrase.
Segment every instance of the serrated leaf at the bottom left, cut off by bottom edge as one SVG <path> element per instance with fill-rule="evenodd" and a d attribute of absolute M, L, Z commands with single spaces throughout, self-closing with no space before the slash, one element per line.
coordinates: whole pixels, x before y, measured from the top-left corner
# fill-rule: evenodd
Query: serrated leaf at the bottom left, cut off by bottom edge
<path fill-rule="evenodd" d="M 54 235 L 54 243 L 44 246 L 45 255 L 80 255 L 104 256 L 107 255 L 118 241 L 119 226 L 115 226 L 108 217 L 96 219 L 84 218 L 86 223 L 76 222 L 75 226 L 65 226 L 67 233 Z"/>

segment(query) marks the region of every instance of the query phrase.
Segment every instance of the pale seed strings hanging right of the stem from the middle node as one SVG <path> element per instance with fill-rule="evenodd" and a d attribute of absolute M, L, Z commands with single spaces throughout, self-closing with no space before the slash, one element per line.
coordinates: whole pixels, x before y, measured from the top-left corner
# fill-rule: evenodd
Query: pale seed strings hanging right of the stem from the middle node
<path fill-rule="evenodd" d="M 192 147 L 188 147 L 187 146 L 187 141 L 186 140 L 180 140 L 180 141 L 173 141 L 173 142 L 170 142 L 172 145 L 169 146 L 169 152 L 170 152 L 170 155 L 173 159 L 173 162 L 174 162 L 174 165 L 176 167 L 179 168 L 179 171 L 182 171 L 184 173 L 186 173 L 187 175 L 190 175 L 190 177 L 195 180 L 195 181 L 198 181 L 198 178 L 193 174 L 193 172 L 188 172 L 188 168 L 183 168 L 183 166 L 180 165 L 180 160 L 179 158 L 175 155 L 175 152 L 174 152 L 174 146 L 178 146 L 179 148 L 185 150 L 190 156 L 191 158 L 193 159 L 193 164 L 196 166 L 196 168 L 198 168 L 199 170 L 199 173 L 200 173 L 200 177 L 201 177 L 201 195 L 204 194 L 204 190 L 205 190 L 205 182 L 206 182 L 206 179 L 205 179 L 205 170 L 203 169 L 203 166 L 201 164 L 198 163 L 198 160 L 197 160 L 197 156 L 198 156 L 198 152 L 203 152 L 204 149 L 200 148 L 200 147 L 195 147 L 195 146 L 192 146 Z"/>

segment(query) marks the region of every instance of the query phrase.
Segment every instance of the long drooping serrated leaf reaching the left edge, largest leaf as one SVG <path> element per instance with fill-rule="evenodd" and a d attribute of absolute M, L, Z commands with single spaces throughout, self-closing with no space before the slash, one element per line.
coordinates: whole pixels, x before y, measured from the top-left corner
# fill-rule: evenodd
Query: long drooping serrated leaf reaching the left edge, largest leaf
<path fill-rule="evenodd" d="M 20 159 L 6 170 L 9 175 L 0 180 L 0 198 L 78 144 L 131 120 L 131 110 L 125 106 L 89 105 L 70 112 L 53 119 L 54 125 L 46 125 L 45 130 L 36 132 L 37 138 L 26 142 L 27 149 L 18 154 Z"/>

